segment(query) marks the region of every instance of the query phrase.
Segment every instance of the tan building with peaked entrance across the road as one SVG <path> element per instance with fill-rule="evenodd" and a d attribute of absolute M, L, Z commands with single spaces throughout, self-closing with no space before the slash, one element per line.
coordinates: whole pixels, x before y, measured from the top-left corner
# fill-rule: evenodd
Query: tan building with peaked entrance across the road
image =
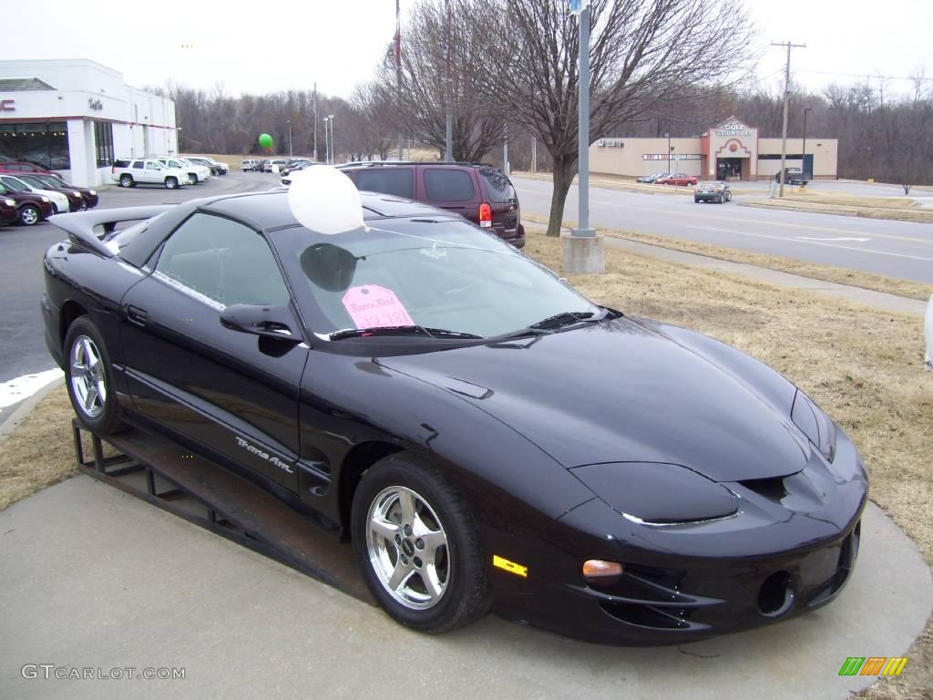
<path fill-rule="evenodd" d="M 787 139 L 787 167 L 813 179 L 836 178 L 839 142 L 807 136 Z M 804 153 L 804 149 L 806 152 Z M 590 147 L 590 170 L 639 177 L 686 173 L 701 180 L 769 180 L 781 169 L 781 139 L 731 117 L 691 138 L 601 138 Z"/>

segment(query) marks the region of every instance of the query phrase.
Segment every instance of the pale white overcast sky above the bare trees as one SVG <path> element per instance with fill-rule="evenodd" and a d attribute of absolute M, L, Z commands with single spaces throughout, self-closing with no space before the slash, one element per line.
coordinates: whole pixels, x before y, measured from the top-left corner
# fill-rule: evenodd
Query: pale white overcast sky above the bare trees
<path fill-rule="evenodd" d="M 412 4 L 402 0 L 403 18 Z M 794 49 L 791 67 L 813 90 L 862 79 L 829 74 L 898 77 L 926 66 L 933 77 L 931 0 L 746 0 L 745 6 L 761 35 L 759 78 L 772 89 L 783 82 L 786 54 L 766 47 L 788 39 L 807 45 Z M 395 32 L 394 0 L 26 0 L 4 3 L 2 17 L 4 26 L 22 31 L 4 33 L 0 60 L 90 58 L 137 87 L 172 79 L 204 89 L 220 83 L 231 94 L 311 88 L 316 81 L 319 91 L 346 97 L 382 61 Z M 909 85 L 894 81 L 888 90 Z"/>

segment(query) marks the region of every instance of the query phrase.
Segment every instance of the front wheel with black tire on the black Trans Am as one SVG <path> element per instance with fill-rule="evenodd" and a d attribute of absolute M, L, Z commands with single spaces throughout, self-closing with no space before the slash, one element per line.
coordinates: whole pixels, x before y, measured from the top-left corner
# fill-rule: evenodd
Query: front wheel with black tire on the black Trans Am
<path fill-rule="evenodd" d="M 353 544 L 369 591 L 398 623 L 429 634 L 478 620 L 491 595 L 466 501 L 425 459 L 398 453 L 360 480 Z"/>

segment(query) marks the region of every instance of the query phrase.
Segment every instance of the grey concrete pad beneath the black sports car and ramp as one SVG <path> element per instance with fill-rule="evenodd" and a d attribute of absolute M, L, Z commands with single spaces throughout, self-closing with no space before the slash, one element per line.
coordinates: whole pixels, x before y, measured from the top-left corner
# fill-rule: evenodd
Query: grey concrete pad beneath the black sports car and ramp
<path fill-rule="evenodd" d="M 681 647 L 586 644 L 496 618 L 426 637 L 376 608 L 78 476 L 0 512 L 0 697 L 845 698 L 849 656 L 901 656 L 929 568 L 874 506 L 827 608 Z M 910 664 L 911 662 L 908 662 Z M 23 678 L 23 665 L 122 678 Z M 127 672 L 113 669 L 134 667 Z M 184 679 L 136 679 L 184 668 Z M 26 675 L 33 675 L 33 666 Z"/>

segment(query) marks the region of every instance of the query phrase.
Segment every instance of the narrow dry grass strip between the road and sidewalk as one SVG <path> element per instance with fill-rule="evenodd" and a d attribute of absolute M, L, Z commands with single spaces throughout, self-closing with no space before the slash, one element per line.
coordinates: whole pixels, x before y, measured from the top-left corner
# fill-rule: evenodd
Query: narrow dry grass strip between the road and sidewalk
<path fill-rule="evenodd" d="M 522 220 L 533 221 L 539 224 L 548 223 L 547 217 L 539 217 L 535 214 L 523 214 Z M 573 227 L 576 225 L 574 221 L 564 221 L 564 226 L 566 227 Z M 618 231 L 603 228 L 600 228 L 599 232 L 607 236 L 612 236 L 613 238 L 623 238 L 637 243 L 657 245 L 662 248 L 670 248 L 671 250 L 682 250 L 687 253 L 696 253 L 697 255 L 703 255 L 708 258 L 742 262 L 746 265 L 756 265 L 771 270 L 779 270 L 782 273 L 800 274 L 803 277 L 821 279 L 826 282 L 835 282 L 840 285 L 847 285 L 848 287 L 872 289 L 874 291 L 884 292 L 885 294 L 894 294 L 898 297 L 907 297 L 908 299 L 916 299 L 918 301 L 928 300 L 930 294 L 933 293 L 933 285 L 926 285 L 923 282 L 913 282 L 912 280 L 898 279 L 896 277 L 885 277 L 883 274 L 863 273 L 842 267 L 818 265 L 814 262 L 807 262 L 806 260 L 750 253 L 737 248 L 707 245 L 697 241 L 687 241 L 682 238 L 656 236 L 651 233 Z"/>

